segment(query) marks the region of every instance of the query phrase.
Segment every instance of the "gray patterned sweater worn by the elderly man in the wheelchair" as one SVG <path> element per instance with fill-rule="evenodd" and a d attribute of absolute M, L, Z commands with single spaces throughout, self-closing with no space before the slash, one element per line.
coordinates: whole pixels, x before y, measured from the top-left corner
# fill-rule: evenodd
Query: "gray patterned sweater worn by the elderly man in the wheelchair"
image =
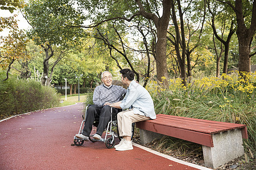
<path fill-rule="evenodd" d="M 93 92 L 93 103 L 97 107 L 103 107 L 106 102 L 118 102 L 125 92 L 126 89 L 121 86 L 112 85 L 108 88 L 104 84 L 101 84 Z"/>

